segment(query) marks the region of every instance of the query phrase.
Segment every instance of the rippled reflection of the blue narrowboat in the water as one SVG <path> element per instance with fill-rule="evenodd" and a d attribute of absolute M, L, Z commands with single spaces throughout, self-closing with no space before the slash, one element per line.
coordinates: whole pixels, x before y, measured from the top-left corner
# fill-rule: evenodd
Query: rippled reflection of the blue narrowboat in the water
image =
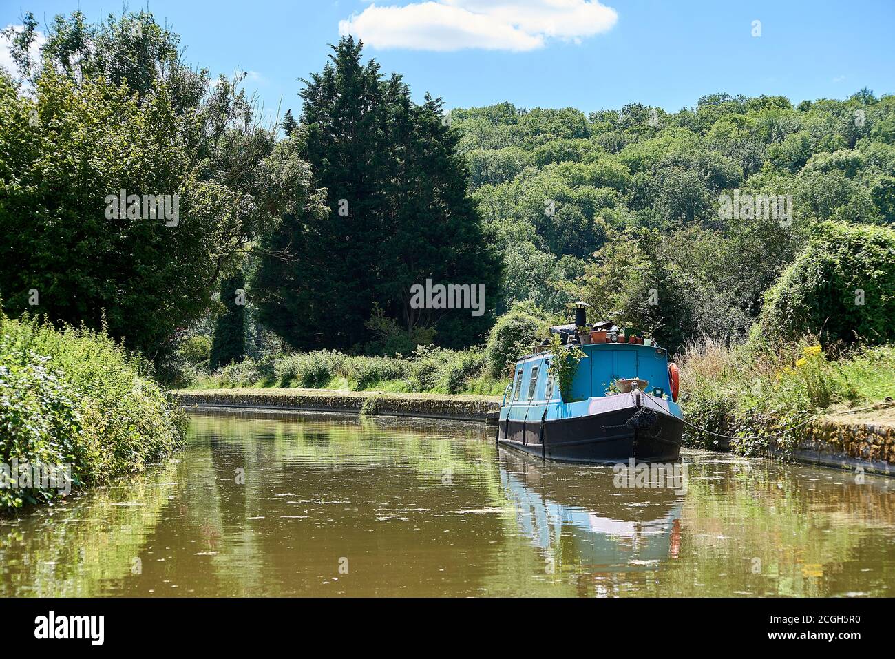
<path fill-rule="evenodd" d="M 544 464 L 507 450 L 500 456 L 500 483 L 520 531 L 558 570 L 652 569 L 677 558 L 683 497 L 674 490 L 618 488 L 610 469 Z"/>

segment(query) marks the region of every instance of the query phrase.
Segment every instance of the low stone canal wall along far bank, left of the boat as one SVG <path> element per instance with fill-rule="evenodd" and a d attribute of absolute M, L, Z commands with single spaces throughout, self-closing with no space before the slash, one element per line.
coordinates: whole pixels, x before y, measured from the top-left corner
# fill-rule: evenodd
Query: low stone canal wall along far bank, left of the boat
<path fill-rule="evenodd" d="M 497 396 L 442 396 L 334 389 L 179 389 L 173 393 L 175 399 L 187 408 L 291 409 L 309 412 L 426 416 L 466 421 L 496 419 L 501 400 Z"/>

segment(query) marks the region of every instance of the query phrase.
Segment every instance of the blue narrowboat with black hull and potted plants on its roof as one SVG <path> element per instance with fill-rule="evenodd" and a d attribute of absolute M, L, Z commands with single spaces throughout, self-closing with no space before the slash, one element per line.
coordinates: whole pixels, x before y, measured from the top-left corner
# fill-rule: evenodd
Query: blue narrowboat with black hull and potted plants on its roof
<path fill-rule="evenodd" d="M 580 343 L 578 328 L 588 327 L 584 306 L 578 304 L 575 325 L 550 328 L 562 349 L 584 353 L 567 399 L 550 369 L 554 355 L 525 355 L 504 393 L 499 444 L 571 462 L 677 460 L 684 431 L 678 367 L 665 348 L 628 342 L 610 321 L 594 325 L 600 342 Z"/>

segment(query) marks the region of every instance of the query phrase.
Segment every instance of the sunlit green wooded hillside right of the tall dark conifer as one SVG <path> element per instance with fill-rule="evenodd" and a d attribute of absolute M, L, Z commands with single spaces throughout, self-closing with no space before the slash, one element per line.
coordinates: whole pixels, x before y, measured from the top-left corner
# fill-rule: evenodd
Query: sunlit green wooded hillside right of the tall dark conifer
<path fill-rule="evenodd" d="M 672 347 L 745 336 L 819 222 L 895 222 L 895 97 L 867 90 L 798 107 L 712 94 L 674 114 L 502 103 L 452 116 L 506 264 L 499 312 L 564 313 L 582 296 Z M 763 195 L 780 217 L 740 207 Z"/>

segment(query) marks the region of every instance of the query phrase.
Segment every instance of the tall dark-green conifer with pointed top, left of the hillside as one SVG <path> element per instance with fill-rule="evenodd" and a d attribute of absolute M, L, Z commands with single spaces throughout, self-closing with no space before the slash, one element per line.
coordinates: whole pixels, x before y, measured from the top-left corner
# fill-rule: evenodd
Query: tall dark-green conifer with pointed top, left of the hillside
<path fill-rule="evenodd" d="M 285 218 L 262 245 L 254 284 L 260 318 L 293 347 L 362 345 L 374 308 L 408 333 L 436 327 L 447 346 L 473 343 L 490 312 L 414 310 L 411 287 L 484 285 L 493 308 L 499 259 L 467 194 L 468 173 L 441 102 L 414 104 L 401 77 L 362 64 L 362 42 L 341 39 L 304 80 L 301 153 L 328 193 L 319 221 Z M 302 133 L 299 135 L 298 133 Z"/>

